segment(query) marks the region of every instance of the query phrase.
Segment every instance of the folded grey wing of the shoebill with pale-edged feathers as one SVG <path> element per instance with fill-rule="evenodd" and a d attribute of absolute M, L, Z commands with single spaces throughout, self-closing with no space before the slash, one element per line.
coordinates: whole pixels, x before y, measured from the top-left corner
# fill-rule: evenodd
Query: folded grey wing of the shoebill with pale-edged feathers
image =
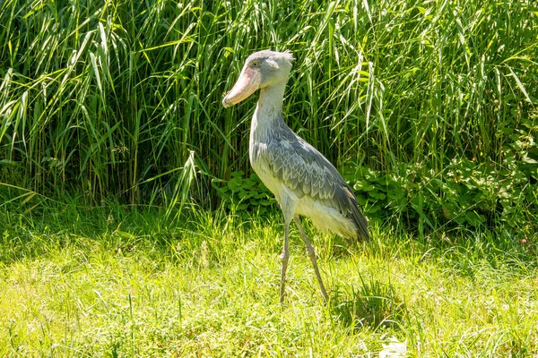
<path fill-rule="evenodd" d="M 263 153 L 273 175 L 299 198 L 310 198 L 350 217 L 358 234 L 367 239 L 368 222 L 357 206 L 355 195 L 336 168 L 319 152 L 293 132 L 266 142 Z"/>

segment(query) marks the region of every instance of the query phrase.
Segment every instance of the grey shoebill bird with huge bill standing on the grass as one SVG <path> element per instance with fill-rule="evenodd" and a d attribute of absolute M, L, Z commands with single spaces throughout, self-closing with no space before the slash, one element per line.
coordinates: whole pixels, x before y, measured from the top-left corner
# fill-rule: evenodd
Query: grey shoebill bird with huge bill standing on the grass
<path fill-rule="evenodd" d="M 289 51 L 264 50 L 247 58 L 239 79 L 222 100 L 230 107 L 260 90 L 250 128 L 250 164 L 273 192 L 284 217 L 284 248 L 280 298 L 284 299 L 288 268 L 290 224 L 293 220 L 307 246 L 307 253 L 325 303 L 327 293 L 317 268 L 316 252 L 299 217 L 309 217 L 322 231 L 345 238 L 367 240 L 369 227 L 357 207 L 350 186 L 334 166 L 284 123 L 282 102 L 293 56 Z"/>

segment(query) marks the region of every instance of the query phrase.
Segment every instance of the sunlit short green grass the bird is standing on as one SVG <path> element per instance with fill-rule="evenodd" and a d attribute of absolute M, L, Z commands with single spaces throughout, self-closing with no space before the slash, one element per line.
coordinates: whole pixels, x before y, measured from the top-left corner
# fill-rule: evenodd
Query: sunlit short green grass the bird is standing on
<path fill-rule="evenodd" d="M 53 205 L 0 212 L 0 355 L 538 354 L 534 244 L 421 241 L 374 228 L 348 246 L 310 230 L 325 307 L 292 230 L 279 304 L 281 217 Z"/>

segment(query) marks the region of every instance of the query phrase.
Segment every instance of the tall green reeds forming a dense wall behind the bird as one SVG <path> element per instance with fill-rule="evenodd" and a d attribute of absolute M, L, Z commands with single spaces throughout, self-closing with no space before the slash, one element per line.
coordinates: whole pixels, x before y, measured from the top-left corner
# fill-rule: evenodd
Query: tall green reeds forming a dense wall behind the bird
<path fill-rule="evenodd" d="M 153 202 L 195 166 L 198 199 L 213 197 L 212 178 L 249 170 L 256 101 L 224 111 L 222 93 L 267 47 L 297 58 L 288 124 L 337 166 L 499 165 L 538 98 L 537 12 L 530 0 L 5 0 L 0 181 Z"/>

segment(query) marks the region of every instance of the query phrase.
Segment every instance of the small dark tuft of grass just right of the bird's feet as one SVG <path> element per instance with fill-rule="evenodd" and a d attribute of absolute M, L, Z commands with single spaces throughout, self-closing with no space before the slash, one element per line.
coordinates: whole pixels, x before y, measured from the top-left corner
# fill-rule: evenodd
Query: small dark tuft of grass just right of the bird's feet
<path fill-rule="evenodd" d="M 395 286 L 363 277 L 360 277 L 360 286 L 351 286 L 351 292 L 334 292 L 330 310 L 337 320 L 353 330 L 398 329 L 407 316 L 404 300 L 396 293 Z"/>

